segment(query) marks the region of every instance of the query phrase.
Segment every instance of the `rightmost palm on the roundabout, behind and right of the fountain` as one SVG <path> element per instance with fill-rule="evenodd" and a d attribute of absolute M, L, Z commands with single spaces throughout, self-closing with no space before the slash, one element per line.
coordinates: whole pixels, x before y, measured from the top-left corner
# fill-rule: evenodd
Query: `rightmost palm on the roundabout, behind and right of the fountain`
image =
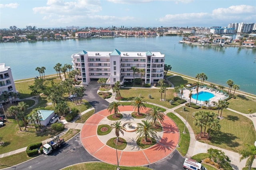
<path fill-rule="evenodd" d="M 162 123 L 164 121 L 164 112 L 162 112 L 157 106 L 149 109 L 146 114 L 146 118 L 154 122 L 154 127 L 156 127 L 156 122 L 160 121 Z"/>

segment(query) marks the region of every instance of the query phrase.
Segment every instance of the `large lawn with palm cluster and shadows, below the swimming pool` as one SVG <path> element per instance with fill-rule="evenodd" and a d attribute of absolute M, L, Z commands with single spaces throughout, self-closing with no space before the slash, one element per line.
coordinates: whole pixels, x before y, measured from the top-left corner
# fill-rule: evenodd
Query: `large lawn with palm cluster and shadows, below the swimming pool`
<path fill-rule="evenodd" d="M 188 113 L 187 120 L 195 134 L 200 133 L 200 128 L 194 126 L 192 113 L 199 110 L 200 109 L 192 109 L 190 107 L 186 107 L 186 111 L 182 111 L 182 108 L 175 110 L 175 112 L 184 117 L 184 119 L 186 119 L 186 113 Z M 213 112 L 217 113 L 218 110 Z M 205 142 L 234 152 L 240 152 L 242 149 L 245 149 L 246 147 L 244 144 L 254 144 L 254 141 L 256 140 L 256 132 L 250 119 L 226 109 L 223 110 L 222 117 L 224 119 L 220 119 L 220 131 L 212 131 L 212 139 L 210 141 L 199 140 L 200 142 Z"/>

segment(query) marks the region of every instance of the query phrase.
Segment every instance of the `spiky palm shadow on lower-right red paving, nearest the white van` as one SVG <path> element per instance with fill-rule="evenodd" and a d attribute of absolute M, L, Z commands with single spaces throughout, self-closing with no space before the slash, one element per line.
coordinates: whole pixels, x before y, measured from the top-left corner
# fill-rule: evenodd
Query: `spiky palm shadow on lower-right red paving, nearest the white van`
<path fill-rule="evenodd" d="M 152 146 L 150 149 L 164 150 L 164 152 L 166 152 L 166 150 L 174 150 L 174 148 L 176 147 L 174 143 L 175 142 L 173 140 L 168 140 L 168 138 L 165 137 L 160 139 L 160 141 Z"/>

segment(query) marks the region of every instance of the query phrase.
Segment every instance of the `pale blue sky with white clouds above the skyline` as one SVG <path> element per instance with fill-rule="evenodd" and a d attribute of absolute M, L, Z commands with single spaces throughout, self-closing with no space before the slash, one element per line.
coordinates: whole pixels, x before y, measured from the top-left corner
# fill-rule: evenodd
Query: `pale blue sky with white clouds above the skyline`
<path fill-rule="evenodd" d="M 256 22 L 256 0 L 0 0 L 0 28 L 211 27 Z"/>

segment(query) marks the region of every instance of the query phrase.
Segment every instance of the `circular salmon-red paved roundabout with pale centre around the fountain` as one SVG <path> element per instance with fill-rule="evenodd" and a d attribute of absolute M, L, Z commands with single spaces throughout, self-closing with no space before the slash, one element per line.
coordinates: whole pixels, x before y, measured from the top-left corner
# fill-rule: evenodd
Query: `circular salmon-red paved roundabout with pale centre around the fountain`
<path fill-rule="evenodd" d="M 130 119 L 130 117 L 128 120 L 127 117 L 125 117 L 126 115 L 128 115 L 129 112 L 132 113 L 132 106 L 124 106 L 118 108 L 120 110 L 120 113 L 124 115 L 124 117 L 119 120 L 122 121 L 122 123 L 131 121 L 134 121 L 136 123 L 136 121 L 138 121 L 138 119 L 134 120 L 133 118 Z M 148 108 L 146 110 L 148 110 Z M 142 110 L 141 112 L 145 113 L 146 110 Z M 102 162 L 117 164 L 116 149 L 106 145 L 106 141 L 111 138 L 111 135 L 112 137 L 115 137 L 114 130 L 112 130 L 108 135 L 97 135 L 98 125 L 110 125 L 111 123 L 115 122 L 110 121 L 106 118 L 109 115 L 110 113 L 107 111 L 107 109 L 104 109 L 102 111 L 99 111 L 98 113 L 95 113 L 89 119 L 87 119 L 80 132 L 80 139 L 84 148 L 92 156 L 101 160 Z M 125 132 L 124 136 L 120 134 L 120 137 L 124 138 L 127 141 L 127 146 L 124 150 L 117 150 L 119 165 L 144 166 L 162 160 L 166 156 L 170 155 L 178 145 L 179 131 L 174 121 L 172 121 L 166 115 L 164 117 L 162 127 L 163 132 L 158 133 L 158 136 L 160 138 L 158 142 L 154 146 L 151 146 L 150 148 L 146 148 L 144 150 L 138 148 L 138 146 L 136 145 L 137 134 L 135 135 L 135 132 Z"/>

